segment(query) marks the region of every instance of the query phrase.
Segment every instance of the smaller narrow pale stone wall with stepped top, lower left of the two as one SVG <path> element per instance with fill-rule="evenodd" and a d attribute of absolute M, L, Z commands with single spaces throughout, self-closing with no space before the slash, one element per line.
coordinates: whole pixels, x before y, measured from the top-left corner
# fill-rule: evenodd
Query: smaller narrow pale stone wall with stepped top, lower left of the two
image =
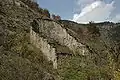
<path fill-rule="evenodd" d="M 39 34 L 34 32 L 32 29 L 30 30 L 30 41 L 42 51 L 49 61 L 53 62 L 54 69 L 57 69 L 57 56 L 55 53 L 55 48 L 50 46 L 47 40 L 40 37 Z"/>

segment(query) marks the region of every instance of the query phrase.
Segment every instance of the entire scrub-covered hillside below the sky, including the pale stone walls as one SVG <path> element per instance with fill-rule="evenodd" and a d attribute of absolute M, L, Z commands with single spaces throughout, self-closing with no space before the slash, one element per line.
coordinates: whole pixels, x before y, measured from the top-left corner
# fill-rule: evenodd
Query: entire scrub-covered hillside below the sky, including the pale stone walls
<path fill-rule="evenodd" d="M 120 24 L 53 20 L 30 0 L 0 0 L 0 80 L 120 80 Z"/>

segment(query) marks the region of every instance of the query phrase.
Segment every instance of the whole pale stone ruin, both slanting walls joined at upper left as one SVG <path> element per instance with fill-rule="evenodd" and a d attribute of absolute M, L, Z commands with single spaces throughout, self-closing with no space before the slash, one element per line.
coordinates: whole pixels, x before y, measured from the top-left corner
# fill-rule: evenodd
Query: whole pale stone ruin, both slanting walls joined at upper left
<path fill-rule="evenodd" d="M 30 29 L 30 40 L 32 44 L 38 47 L 48 57 L 48 60 L 53 62 L 54 68 L 57 68 L 57 53 L 49 42 L 57 42 L 58 45 L 68 47 L 72 51 L 72 53 L 68 54 L 87 55 L 88 53 L 85 45 L 77 42 L 74 37 L 67 33 L 66 29 L 51 20 L 34 20 Z"/>

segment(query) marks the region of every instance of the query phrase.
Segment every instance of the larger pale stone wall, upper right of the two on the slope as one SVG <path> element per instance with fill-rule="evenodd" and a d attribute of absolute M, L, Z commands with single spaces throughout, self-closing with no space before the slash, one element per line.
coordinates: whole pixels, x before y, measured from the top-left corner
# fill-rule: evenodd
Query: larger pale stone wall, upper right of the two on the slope
<path fill-rule="evenodd" d="M 57 42 L 60 45 L 68 47 L 73 53 L 82 55 L 87 54 L 85 45 L 79 43 L 74 37 L 69 35 L 62 25 L 50 20 L 38 20 L 39 34 L 44 35 L 48 41 Z M 86 52 L 86 54 L 85 54 Z"/>

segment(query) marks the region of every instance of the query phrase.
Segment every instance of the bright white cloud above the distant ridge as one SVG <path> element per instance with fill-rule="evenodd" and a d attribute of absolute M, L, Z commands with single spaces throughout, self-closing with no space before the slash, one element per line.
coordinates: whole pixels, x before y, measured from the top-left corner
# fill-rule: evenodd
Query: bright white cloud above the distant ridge
<path fill-rule="evenodd" d="M 77 0 L 76 5 L 78 6 L 78 9 L 76 9 L 78 12 L 73 15 L 72 19 L 75 22 L 118 22 L 120 20 L 120 14 L 112 16 L 116 9 L 114 0 L 110 3 L 106 3 L 104 0 Z"/>

